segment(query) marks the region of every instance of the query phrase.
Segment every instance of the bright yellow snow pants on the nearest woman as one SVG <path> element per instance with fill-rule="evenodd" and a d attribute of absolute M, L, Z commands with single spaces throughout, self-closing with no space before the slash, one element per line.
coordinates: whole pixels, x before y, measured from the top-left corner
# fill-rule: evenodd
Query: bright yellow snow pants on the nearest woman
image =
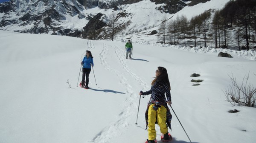
<path fill-rule="evenodd" d="M 148 140 L 154 140 L 157 137 L 155 122 L 160 126 L 160 132 L 166 134 L 168 127 L 166 124 L 166 111 L 164 106 L 158 107 L 157 111 L 153 109 L 154 104 L 148 107 Z M 157 119 L 156 119 L 157 118 Z"/>

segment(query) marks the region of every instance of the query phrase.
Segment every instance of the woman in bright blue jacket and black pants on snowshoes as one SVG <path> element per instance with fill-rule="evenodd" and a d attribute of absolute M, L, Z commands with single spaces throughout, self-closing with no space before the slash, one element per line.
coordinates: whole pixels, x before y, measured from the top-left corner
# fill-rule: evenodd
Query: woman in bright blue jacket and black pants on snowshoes
<path fill-rule="evenodd" d="M 82 76 L 82 81 L 80 83 L 80 86 L 88 89 L 89 74 L 91 71 L 91 67 L 93 67 L 93 56 L 89 50 L 86 50 L 86 55 L 84 56 L 84 59 L 82 60 L 81 64 L 83 65 L 83 70 L 82 70 L 83 76 Z M 85 76 L 86 76 L 86 80 L 84 82 Z"/>

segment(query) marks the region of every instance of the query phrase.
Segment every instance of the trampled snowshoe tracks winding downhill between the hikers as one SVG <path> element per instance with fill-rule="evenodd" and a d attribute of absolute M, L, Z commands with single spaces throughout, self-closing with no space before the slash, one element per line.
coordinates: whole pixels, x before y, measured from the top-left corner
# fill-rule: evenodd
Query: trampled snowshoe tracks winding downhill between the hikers
<path fill-rule="evenodd" d="M 120 67 L 125 72 L 115 70 L 110 66 L 110 62 L 108 62 L 108 59 L 105 55 L 108 55 L 109 50 L 112 49 L 116 54 Z M 132 113 L 137 110 L 137 102 L 135 102 L 135 99 L 138 97 L 138 91 L 135 91 L 134 93 L 134 87 L 129 84 L 128 78 L 134 79 L 136 81 L 135 83 L 137 83 L 136 86 L 142 85 L 143 89 L 149 89 L 146 83 L 129 68 L 122 49 L 123 48 L 120 48 L 116 45 L 107 45 L 104 43 L 102 51 L 99 53 L 102 66 L 106 70 L 110 70 L 112 73 L 114 73 L 120 80 L 120 83 L 123 85 L 123 87 L 126 88 L 125 93 L 127 98 L 125 99 L 125 104 L 123 105 L 118 118 L 110 123 L 107 127 L 102 129 L 101 132 L 99 132 L 92 140 L 90 140 L 92 143 L 109 143 L 114 137 L 122 135 L 128 126 L 133 125 L 128 123 L 128 118 L 131 117 Z"/>

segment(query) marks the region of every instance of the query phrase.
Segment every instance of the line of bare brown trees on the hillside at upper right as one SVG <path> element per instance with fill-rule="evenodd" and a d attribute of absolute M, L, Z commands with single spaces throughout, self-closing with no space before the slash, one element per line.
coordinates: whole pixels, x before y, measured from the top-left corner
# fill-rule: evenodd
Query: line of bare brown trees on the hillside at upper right
<path fill-rule="evenodd" d="M 256 42 L 256 0 L 231 0 L 221 10 L 210 9 L 190 20 L 184 15 L 175 20 L 164 17 L 158 31 L 162 43 L 177 44 L 183 40 L 185 46 L 188 42 L 198 46 L 199 42 L 201 47 L 211 43 L 215 48 L 229 48 L 233 39 L 238 50 L 249 50 L 250 43 Z M 241 47 L 241 43 L 246 46 Z"/>

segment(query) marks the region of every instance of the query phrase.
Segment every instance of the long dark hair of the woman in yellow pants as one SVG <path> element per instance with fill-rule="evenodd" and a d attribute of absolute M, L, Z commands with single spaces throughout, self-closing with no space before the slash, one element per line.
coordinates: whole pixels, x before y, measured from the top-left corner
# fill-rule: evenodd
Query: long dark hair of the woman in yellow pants
<path fill-rule="evenodd" d="M 168 84 L 169 90 L 171 90 L 171 85 L 170 85 L 170 81 L 169 81 L 169 77 L 168 77 L 166 68 L 157 67 L 157 69 L 159 70 L 160 75 L 155 77 L 155 79 L 152 81 L 151 85 L 153 85 L 156 81 L 160 81 L 160 82 Z"/>

